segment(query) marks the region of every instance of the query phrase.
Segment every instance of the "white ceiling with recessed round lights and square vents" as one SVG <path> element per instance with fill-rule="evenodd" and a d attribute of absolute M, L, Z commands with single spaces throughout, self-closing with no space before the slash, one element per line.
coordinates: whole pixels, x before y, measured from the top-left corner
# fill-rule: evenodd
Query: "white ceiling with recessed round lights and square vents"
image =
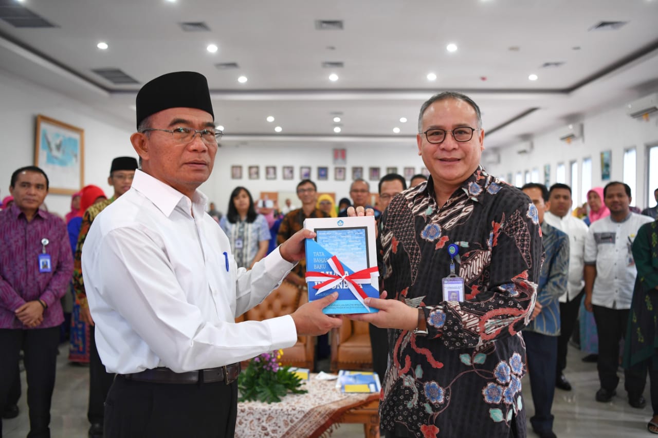
<path fill-rule="evenodd" d="M 126 128 L 140 85 L 114 85 L 92 69 L 119 68 L 140 84 L 201 72 L 224 143 L 413 142 L 422 101 L 454 89 L 482 108 L 486 145 L 505 147 L 658 89 L 658 0 L 0 0 L 0 16 L 16 5 L 57 27 L 0 20 L 0 68 Z M 344 29 L 316 30 L 316 20 L 343 20 Z M 590 31 L 601 21 L 627 23 Z M 180 22 L 205 22 L 210 32 L 183 32 Z M 448 43 L 459 50 L 449 53 Z M 240 68 L 218 70 L 220 62 Z"/>

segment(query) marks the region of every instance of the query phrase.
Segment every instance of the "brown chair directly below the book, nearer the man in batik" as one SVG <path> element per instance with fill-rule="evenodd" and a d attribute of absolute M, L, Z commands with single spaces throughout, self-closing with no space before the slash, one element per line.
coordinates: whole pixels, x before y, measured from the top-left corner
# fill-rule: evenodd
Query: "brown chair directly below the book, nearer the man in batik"
<path fill-rule="evenodd" d="M 332 372 L 338 370 L 372 370 L 372 348 L 368 323 L 343 320 L 331 333 Z"/>

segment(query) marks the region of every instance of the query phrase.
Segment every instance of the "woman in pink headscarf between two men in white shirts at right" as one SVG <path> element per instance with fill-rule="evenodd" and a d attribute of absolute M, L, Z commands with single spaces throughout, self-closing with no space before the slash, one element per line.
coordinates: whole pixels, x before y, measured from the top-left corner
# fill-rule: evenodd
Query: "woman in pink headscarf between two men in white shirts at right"
<path fill-rule="evenodd" d="M 589 214 L 584 222 L 590 226 L 599 219 L 610 216 L 610 210 L 603 203 L 603 187 L 594 187 L 587 192 Z M 588 353 L 583 362 L 596 362 L 599 358 L 599 335 L 596 332 L 594 314 L 585 309 L 585 300 L 580 302 L 580 350 Z"/>

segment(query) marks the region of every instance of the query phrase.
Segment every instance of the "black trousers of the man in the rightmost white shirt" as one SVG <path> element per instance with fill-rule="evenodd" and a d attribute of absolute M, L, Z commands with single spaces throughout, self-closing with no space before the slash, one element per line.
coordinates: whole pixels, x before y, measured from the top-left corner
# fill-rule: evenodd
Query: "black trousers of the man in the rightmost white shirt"
<path fill-rule="evenodd" d="M 613 309 L 594 305 L 594 320 L 599 335 L 599 381 L 607 391 L 617 389 L 619 376 L 619 341 L 626 336 L 628 309 Z M 628 397 L 637 398 L 644 392 L 647 383 L 646 368 L 624 370 L 624 387 Z"/>

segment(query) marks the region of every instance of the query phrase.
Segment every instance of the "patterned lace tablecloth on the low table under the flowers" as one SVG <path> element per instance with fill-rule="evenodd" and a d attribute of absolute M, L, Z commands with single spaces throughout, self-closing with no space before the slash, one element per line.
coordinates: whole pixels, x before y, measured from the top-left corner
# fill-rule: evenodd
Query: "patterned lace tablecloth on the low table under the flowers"
<path fill-rule="evenodd" d="M 340 422 L 349 409 L 379 399 L 379 394 L 345 394 L 335 380 L 305 383 L 305 394 L 288 394 L 279 403 L 240 402 L 236 438 L 316 438 Z M 330 432 L 330 431 L 329 431 Z"/>

